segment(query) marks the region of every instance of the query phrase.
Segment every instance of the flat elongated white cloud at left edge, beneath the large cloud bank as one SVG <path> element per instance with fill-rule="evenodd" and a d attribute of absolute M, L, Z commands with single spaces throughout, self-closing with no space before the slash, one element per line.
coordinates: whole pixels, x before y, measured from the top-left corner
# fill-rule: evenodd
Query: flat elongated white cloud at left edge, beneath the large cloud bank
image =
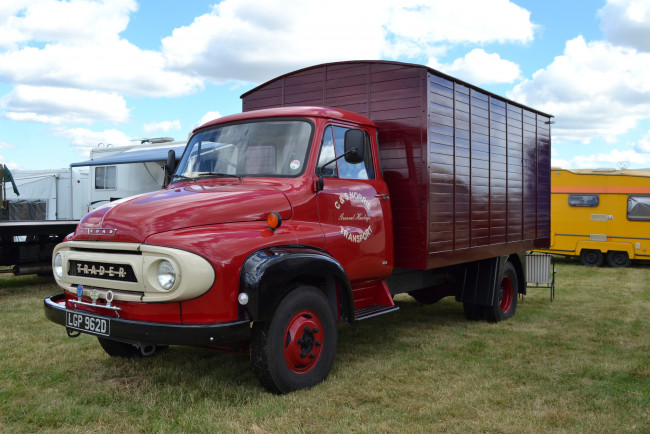
<path fill-rule="evenodd" d="M 129 117 L 126 101 L 115 93 L 57 87 L 16 86 L 0 98 L 0 107 L 11 120 L 53 125 L 124 122 Z"/>

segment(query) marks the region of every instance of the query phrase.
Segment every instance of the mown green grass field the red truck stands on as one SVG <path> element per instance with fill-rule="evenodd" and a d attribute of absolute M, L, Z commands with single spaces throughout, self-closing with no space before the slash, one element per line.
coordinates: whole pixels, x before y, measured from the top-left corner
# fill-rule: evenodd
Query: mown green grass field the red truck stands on
<path fill-rule="evenodd" d="M 51 280 L 0 277 L 0 432 L 650 432 L 650 266 L 560 259 L 556 299 L 467 322 L 451 299 L 339 329 L 321 385 L 265 392 L 248 357 L 108 357 L 44 318 Z"/>

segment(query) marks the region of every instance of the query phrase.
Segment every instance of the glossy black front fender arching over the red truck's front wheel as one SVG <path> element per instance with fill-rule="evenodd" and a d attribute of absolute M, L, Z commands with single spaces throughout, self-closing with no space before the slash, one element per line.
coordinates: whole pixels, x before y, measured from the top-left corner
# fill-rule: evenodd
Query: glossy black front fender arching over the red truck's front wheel
<path fill-rule="evenodd" d="M 345 270 L 327 252 L 308 246 L 269 247 L 244 262 L 240 293 L 248 295 L 246 310 L 253 321 L 268 321 L 293 284 L 321 289 L 337 317 L 353 320 L 352 287 Z"/>

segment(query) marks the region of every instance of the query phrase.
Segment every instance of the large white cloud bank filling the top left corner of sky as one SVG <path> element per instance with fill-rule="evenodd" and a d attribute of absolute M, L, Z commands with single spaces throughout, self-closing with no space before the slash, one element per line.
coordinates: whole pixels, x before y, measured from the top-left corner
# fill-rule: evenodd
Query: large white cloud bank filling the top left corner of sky
<path fill-rule="evenodd" d="M 202 89 L 203 80 L 191 71 L 170 71 L 160 52 L 120 38 L 136 10 L 134 0 L 35 0 L 5 6 L 0 9 L 0 47 L 6 48 L 0 52 L 0 80 L 150 97 Z"/>

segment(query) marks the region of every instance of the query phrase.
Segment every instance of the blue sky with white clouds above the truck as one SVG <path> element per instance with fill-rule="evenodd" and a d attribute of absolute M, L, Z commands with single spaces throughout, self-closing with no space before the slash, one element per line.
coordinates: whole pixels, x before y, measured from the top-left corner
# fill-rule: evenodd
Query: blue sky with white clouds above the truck
<path fill-rule="evenodd" d="M 430 66 L 554 116 L 552 165 L 650 168 L 650 0 L 0 2 L 0 164 L 186 140 L 326 62 Z"/>

